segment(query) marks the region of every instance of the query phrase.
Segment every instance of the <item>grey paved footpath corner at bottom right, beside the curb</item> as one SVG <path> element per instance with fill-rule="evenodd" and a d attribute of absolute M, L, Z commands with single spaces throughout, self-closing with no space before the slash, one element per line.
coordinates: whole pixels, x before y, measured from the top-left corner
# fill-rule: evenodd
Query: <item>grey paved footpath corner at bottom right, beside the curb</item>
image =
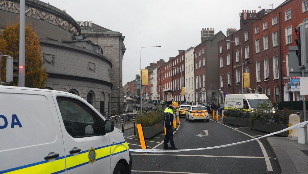
<path fill-rule="evenodd" d="M 269 137 L 282 174 L 308 174 L 308 145 L 298 144 L 285 137 Z"/>

